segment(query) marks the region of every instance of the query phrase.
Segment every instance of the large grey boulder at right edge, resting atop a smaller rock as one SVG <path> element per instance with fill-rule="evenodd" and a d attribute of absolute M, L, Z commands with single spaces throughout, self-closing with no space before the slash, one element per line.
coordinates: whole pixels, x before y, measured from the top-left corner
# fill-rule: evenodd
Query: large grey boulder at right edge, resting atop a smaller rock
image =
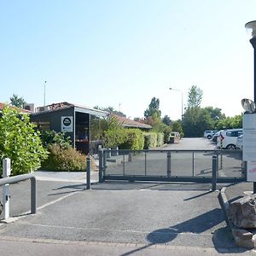
<path fill-rule="evenodd" d="M 236 227 L 256 228 L 256 195 L 246 195 L 230 203 L 229 217 Z"/>

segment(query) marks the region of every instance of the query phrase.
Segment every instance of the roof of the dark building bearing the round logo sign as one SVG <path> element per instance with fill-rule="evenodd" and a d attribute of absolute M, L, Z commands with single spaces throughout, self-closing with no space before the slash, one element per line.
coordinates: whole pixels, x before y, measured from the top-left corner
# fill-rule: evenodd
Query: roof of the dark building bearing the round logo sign
<path fill-rule="evenodd" d="M 45 107 L 39 107 L 37 109 L 40 109 L 40 108 L 44 108 L 45 110 L 39 111 L 36 113 L 32 113 L 32 115 L 39 115 L 41 113 L 52 113 L 55 111 L 61 111 L 62 109 L 66 109 L 66 108 L 74 108 L 74 110 L 77 112 L 90 113 L 90 114 L 100 116 L 100 117 L 106 117 L 109 114 L 107 111 L 102 111 L 102 110 L 99 110 L 96 108 L 88 108 L 83 105 L 73 104 L 73 103 L 69 103 L 69 102 L 52 103 L 50 105 L 47 105 Z"/>

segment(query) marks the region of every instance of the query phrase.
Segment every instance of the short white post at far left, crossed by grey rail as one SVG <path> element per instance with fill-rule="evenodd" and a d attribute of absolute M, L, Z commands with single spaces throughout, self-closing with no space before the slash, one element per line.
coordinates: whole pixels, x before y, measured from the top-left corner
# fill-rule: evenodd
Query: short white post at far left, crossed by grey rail
<path fill-rule="evenodd" d="M 9 177 L 11 173 L 10 159 L 3 159 L 3 177 Z M 3 219 L 9 218 L 9 183 L 3 185 Z"/>

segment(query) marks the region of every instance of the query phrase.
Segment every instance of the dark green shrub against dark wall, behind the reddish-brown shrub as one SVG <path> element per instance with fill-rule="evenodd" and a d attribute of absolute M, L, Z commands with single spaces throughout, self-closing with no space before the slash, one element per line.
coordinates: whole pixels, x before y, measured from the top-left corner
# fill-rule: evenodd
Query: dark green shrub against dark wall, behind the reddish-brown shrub
<path fill-rule="evenodd" d="M 41 139 L 45 148 L 50 148 L 51 145 L 58 144 L 61 148 L 68 148 L 71 145 L 70 137 L 65 137 L 64 132 L 42 131 Z"/>

